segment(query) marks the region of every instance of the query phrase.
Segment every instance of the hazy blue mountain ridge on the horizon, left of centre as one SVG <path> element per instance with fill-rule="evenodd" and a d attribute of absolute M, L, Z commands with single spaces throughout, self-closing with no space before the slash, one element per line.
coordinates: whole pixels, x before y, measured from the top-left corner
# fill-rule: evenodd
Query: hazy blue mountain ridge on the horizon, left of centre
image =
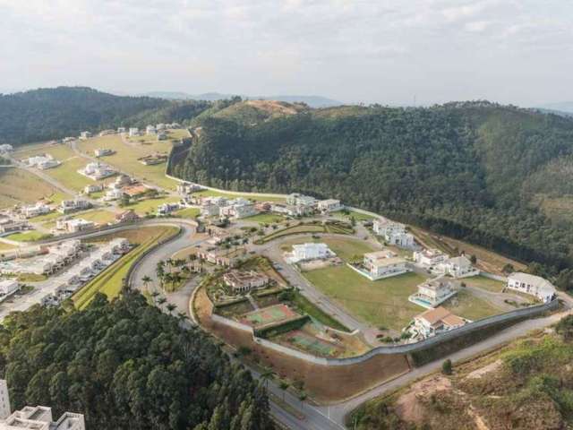
<path fill-rule="evenodd" d="M 310 107 L 333 107 L 340 106 L 343 103 L 328 99 L 321 96 L 245 96 L 240 94 L 222 94 L 219 92 L 205 92 L 203 94 L 187 94 L 185 92 L 178 91 L 151 91 L 142 94 L 137 94 L 138 96 L 154 97 L 158 99 L 169 99 L 169 100 L 208 100 L 215 101 L 221 99 L 231 99 L 237 95 L 243 99 L 261 99 L 261 100 L 278 100 L 286 101 L 288 103 L 303 102 Z"/>

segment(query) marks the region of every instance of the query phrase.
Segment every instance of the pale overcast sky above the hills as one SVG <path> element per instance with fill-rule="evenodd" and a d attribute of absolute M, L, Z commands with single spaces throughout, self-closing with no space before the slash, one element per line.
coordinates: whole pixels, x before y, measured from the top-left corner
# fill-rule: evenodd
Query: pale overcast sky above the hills
<path fill-rule="evenodd" d="M 0 0 L 0 91 L 573 100 L 571 0 Z"/>

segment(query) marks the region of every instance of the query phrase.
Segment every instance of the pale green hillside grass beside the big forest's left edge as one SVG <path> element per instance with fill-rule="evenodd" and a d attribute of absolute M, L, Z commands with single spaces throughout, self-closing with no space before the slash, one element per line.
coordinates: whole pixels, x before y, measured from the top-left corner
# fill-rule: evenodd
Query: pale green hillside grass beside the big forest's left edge
<path fill-rule="evenodd" d="M 93 157 L 94 150 L 99 148 L 115 150 L 115 154 L 102 157 L 101 161 L 143 181 L 168 190 L 175 190 L 177 181 L 165 176 L 165 163 L 145 166 L 137 160 L 157 152 L 168 154 L 172 148 L 171 141 L 158 142 L 155 136 L 139 136 L 126 139 L 128 139 L 129 143 L 123 142 L 122 137 L 118 134 L 95 137 L 87 141 L 78 142 L 78 148 L 90 157 Z"/>

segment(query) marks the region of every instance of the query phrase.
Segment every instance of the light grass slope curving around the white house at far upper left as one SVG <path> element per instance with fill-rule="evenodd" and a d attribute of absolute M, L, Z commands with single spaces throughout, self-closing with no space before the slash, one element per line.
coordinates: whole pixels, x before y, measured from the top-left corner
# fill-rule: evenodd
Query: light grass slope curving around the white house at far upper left
<path fill-rule="evenodd" d="M 78 156 L 72 148 L 63 143 L 56 145 L 34 145 L 27 150 L 17 151 L 14 157 L 17 159 L 27 159 L 40 154 L 50 154 L 62 162 L 62 164 L 56 168 L 42 170 L 42 173 L 53 177 L 66 188 L 80 192 L 86 185 L 95 184 L 90 178 L 78 173 L 78 169 L 84 168 L 86 164 L 90 163 L 90 160 Z"/>

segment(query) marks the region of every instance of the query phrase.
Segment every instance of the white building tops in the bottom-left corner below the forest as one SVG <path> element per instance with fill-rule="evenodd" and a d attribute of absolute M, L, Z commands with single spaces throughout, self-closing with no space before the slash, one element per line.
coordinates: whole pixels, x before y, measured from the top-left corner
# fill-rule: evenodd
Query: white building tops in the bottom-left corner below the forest
<path fill-rule="evenodd" d="M 52 409 L 45 406 L 25 406 L 13 413 L 6 381 L 0 380 L 0 430 L 85 430 L 83 415 L 64 412 L 54 421 Z"/>

